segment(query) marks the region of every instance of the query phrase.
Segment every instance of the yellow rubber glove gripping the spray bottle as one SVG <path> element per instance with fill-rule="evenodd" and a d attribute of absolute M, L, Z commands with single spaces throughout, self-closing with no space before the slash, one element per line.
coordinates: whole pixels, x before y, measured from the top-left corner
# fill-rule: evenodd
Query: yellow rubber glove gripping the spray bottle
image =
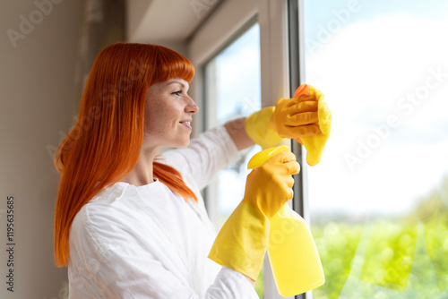
<path fill-rule="evenodd" d="M 270 150 L 270 149 L 267 149 Z M 256 279 L 263 265 L 270 221 L 292 196 L 300 166 L 292 152 L 281 151 L 247 175 L 243 201 L 215 239 L 209 258 Z"/>

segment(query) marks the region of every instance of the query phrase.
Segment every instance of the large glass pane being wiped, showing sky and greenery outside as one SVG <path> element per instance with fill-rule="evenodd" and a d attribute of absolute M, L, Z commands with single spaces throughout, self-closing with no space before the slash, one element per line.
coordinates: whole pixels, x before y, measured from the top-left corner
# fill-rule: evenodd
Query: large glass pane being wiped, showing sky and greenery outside
<path fill-rule="evenodd" d="M 448 298 L 448 3 L 304 0 L 306 82 L 332 110 L 308 167 L 314 299 Z"/>

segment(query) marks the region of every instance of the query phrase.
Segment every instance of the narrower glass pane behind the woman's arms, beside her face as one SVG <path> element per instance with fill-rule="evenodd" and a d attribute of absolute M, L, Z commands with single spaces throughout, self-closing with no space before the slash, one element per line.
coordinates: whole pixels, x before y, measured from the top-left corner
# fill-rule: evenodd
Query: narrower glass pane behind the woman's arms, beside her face
<path fill-rule="evenodd" d="M 260 110 L 260 72 L 260 28 L 255 24 L 205 65 L 207 128 Z M 247 149 L 237 164 L 221 170 L 207 188 L 207 210 L 218 229 L 243 199 L 247 162 L 260 150 L 259 146 Z M 263 298 L 263 271 L 256 289 Z"/>

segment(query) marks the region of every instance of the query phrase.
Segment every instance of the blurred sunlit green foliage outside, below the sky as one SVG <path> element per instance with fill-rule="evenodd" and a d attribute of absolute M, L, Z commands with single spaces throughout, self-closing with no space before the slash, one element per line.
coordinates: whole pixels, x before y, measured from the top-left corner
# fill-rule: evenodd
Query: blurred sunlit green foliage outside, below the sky
<path fill-rule="evenodd" d="M 401 217 L 321 217 L 312 233 L 326 282 L 313 298 L 448 298 L 447 199 L 445 178 Z"/>

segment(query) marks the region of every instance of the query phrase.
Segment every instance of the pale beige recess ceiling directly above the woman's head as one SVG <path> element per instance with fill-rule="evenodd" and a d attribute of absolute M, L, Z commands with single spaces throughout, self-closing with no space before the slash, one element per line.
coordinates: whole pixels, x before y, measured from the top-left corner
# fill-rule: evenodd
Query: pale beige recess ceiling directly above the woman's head
<path fill-rule="evenodd" d="M 223 0 L 127 0 L 127 38 L 183 41 Z"/>

